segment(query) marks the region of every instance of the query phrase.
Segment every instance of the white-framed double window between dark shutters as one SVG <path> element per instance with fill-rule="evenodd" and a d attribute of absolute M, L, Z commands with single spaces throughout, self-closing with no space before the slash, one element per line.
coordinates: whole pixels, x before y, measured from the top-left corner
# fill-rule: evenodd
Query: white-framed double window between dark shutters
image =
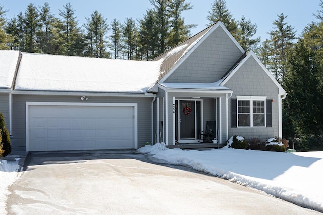
<path fill-rule="evenodd" d="M 265 127 L 266 97 L 237 96 L 238 127 Z"/>

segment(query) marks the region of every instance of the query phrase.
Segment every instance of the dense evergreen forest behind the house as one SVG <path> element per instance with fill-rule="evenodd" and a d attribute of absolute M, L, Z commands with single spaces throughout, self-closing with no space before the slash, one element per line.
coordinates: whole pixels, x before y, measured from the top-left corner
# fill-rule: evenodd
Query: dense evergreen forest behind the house
<path fill-rule="evenodd" d="M 151 60 L 188 39 L 196 25 L 186 24 L 183 17 L 193 8 L 189 1 L 149 2 L 151 9 L 140 19 L 108 22 L 94 11 L 86 23 L 78 23 L 70 3 L 58 15 L 48 2 L 41 6 L 30 3 L 25 12 L 10 18 L 6 17 L 8 9 L 0 5 L 0 49 Z M 298 150 L 323 149 L 323 0 L 317 9 L 299 36 L 286 21 L 288 15 L 277 15 L 265 40 L 256 35 L 256 23 L 244 15 L 235 18 L 225 0 L 215 0 L 204 15 L 206 26 L 221 21 L 245 51 L 253 50 L 287 91 L 283 137 Z"/>

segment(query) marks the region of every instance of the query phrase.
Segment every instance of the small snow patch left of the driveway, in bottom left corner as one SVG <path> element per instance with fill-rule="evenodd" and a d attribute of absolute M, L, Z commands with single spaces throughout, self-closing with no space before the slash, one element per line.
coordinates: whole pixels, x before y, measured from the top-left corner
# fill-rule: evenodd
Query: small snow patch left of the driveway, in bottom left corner
<path fill-rule="evenodd" d="M 6 214 L 6 200 L 7 194 L 9 194 L 8 187 L 12 185 L 19 178 L 18 165 L 19 158 L 15 158 L 13 161 L 0 159 L 0 214 Z"/>

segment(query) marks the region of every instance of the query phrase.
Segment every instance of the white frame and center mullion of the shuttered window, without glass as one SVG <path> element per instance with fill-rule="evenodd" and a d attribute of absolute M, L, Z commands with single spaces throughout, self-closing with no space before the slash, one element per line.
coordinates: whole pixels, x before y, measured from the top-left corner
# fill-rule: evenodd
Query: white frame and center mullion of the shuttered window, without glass
<path fill-rule="evenodd" d="M 267 96 L 241 96 L 237 95 L 237 128 L 266 128 L 267 125 L 267 115 L 266 115 L 266 100 Z M 250 102 L 250 126 L 239 126 L 239 101 L 249 101 Z M 253 101 L 263 101 L 264 102 L 264 126 L 253 126 Z"/>

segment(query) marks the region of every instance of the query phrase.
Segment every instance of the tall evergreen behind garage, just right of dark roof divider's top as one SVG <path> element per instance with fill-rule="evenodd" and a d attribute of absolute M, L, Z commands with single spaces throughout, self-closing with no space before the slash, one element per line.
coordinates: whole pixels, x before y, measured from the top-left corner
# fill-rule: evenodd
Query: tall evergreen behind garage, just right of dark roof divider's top
<path fill-rule="evenodd" d="M 26 48 L 29 53 L 37 52 L 37 33 L 40 28 L 39 14 L 37 8 L 30 3 L 24 16 L 25 32 L 26 32 Z"/>

